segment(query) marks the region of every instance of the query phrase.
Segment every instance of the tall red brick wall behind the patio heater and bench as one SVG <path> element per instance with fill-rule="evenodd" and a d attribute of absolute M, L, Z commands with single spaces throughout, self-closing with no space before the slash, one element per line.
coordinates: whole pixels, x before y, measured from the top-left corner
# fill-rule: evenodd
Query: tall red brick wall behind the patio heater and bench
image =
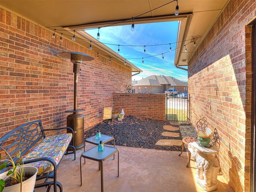
<path fill-rule="evenodd" d="M 99 56 L 23 17 L 0 8 L 0 134 L 25 122 L 42 119 L 47 127 L 66 126 L 65 110 L 74 108 L 73 63 L 56 56 L 75 51 L 95 60 L 80 64 L 78 108 L 85 109 L 85 129 L 103 119 L 113 92 L 124 92 L 131 70 Z"/>

